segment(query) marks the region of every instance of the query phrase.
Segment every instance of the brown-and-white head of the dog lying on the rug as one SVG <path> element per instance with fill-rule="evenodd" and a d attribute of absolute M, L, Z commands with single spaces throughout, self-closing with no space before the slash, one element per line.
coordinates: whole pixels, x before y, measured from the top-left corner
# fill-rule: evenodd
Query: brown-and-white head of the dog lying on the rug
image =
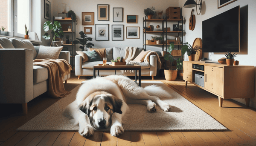
<path fill-rule="evenodd" d="M 96 129 L 108 128 L 112 114 L 122 114 L 121 107 L 122 100 L 107 92 L 94 92 L 79 105 L 79 109 L 88 115 L 90 123 Z"/>

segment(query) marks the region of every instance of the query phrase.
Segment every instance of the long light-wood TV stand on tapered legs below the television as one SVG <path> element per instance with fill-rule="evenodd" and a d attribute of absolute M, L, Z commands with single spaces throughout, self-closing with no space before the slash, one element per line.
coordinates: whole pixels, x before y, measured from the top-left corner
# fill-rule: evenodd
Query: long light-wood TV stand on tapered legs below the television
<path fill-rule="evenodd" d="M 192 64 L 203 65 L 204 70 L 193 69 Z M 195 84 L 196 72 L 204 74 L 204 87 Z M 249 106 L 250 98 L 254 97 L 254 66 L 183 61 L 183 80 L 185 86 L 189 82 L 217 95 L 220 107 L 223 99 L 231 98 L 245 98 L 246 106 Z"/>

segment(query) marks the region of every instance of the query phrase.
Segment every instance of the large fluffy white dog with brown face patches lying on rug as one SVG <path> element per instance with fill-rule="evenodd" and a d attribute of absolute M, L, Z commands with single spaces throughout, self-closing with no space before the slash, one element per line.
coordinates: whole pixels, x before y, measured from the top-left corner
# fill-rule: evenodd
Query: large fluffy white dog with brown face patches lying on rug
<path fill-rule="evenodd" d="M 117 137 L 124 132 L 122 118 L 129 109 L 127 103 L 146 105 L 149 112 L 156 111 L 157 103 L 169 112 L 171 106 L 159 97 L 170 97 L 170 94 L 156 85 L 142 88 L 122 75 L 96 77 L 80 86 L 76 100 L 66 107 L 64 115 L 73 118 L 84 137 L 93 135 L 93 127 L 106 129 L 110 125 L 111 135 Z"/>

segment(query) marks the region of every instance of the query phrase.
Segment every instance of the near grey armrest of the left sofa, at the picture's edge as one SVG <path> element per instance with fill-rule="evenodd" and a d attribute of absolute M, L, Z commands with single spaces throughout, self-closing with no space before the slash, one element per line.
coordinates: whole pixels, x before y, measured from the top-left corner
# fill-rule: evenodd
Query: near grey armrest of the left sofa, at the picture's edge
<path fill-rule="evenodd" d="M 33 51 L 0 49 L 0 103 L 33 99 Z"/>

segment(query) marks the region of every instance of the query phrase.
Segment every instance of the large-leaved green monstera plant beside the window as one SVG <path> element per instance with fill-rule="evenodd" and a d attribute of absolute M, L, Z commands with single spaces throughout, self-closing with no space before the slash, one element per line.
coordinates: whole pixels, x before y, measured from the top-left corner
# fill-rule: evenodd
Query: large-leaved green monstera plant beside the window
<path fill-rule="evenodd" d="M 44 31 L 49 31 L 49 30 L 52 30 L 52 34 L 54 35 L 53 38 L 52 38 L 52 43 L 51 43 L 51 46 L 61 46 L 62 43 L 61 41 L 55 41 L 55 37 L 58 37 L 58 38 L 62 38 L 64 37 L 64 33 L 61 29 L 61 23 L 59 23 L 58 21 L 54 21 L 53 24 L 51 21 L 46 21 L 44 23 Z M 48 33 L 45 33 L 43 35 L 43 38 L 45 40 L 49 40 L 51 38 L 51 36 L 48 34 Z"/>

